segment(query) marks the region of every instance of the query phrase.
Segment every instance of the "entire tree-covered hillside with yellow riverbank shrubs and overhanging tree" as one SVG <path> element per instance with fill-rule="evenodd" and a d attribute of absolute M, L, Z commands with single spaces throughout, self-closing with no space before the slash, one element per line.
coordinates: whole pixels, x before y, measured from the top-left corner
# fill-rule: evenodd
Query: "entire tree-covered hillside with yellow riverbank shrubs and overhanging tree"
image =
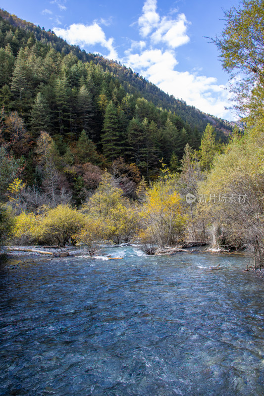
<path fill-rule="evenodd" d="M 212 39 L 230 76 L 240 73 L 233 94 L 246 128 L 235 126 L 225 142 L 217 127 L 228 134 L 231 123 L 1 15 L 2 242 L 78 241 L 94 254 L 101 240 L 136 238 L 152 254 L 206 241 L 250 246 L 255 268 L 263 266 L 262 0 L 226 11 Z"/>

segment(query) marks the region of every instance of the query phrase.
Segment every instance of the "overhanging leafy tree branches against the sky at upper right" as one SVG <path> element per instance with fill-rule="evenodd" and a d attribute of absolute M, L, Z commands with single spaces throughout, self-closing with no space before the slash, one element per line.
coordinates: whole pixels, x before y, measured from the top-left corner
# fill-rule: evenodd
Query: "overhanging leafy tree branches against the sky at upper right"
<path fill-rule="evenodd" d="M 242 0 L 237 8 L 224 11 L 225 27 L 212 42 L 220 52 L 223 68 L 234 77 L 232 91 L 239 113 L 263 118 L 264 76 L 264 3 Z"/>

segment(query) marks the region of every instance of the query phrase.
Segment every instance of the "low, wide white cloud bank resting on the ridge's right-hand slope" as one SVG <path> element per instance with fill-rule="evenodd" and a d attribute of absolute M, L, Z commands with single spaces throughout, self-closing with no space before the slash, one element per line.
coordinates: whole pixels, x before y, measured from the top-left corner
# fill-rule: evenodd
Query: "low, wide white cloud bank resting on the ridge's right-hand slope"
<path fill-rule="evenodd" d="M 141 54 L 129 54 L 125 64 L 169 95 L 183 99 L 206 113 L 230 118 L 230 112 L 224 108 L 229 98 L 224 86 L 217 85 L 214 77 L 175 70 L 178 62 L 173 51 L 151 49 Z"/>

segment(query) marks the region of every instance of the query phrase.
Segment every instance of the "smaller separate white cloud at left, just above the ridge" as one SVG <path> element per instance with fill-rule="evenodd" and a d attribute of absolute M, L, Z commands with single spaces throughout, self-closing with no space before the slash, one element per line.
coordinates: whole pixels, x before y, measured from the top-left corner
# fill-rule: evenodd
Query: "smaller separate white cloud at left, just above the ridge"
<path fill-rule="evenodd" d="M 76 44 L 82 48 L 99 44 L 108 49 L 109 53 L 106 55 L 107 58 L 114 60 L 117 58 L 117 52 L 113 46 L 113 38 L 111 37 L 107 40 L 105 32 L 96 22 L 92 25 L 74 23 L 67 29 L 54 27 L 53 31 L 57 36 L 62 37 L 69 44 Z"/>

